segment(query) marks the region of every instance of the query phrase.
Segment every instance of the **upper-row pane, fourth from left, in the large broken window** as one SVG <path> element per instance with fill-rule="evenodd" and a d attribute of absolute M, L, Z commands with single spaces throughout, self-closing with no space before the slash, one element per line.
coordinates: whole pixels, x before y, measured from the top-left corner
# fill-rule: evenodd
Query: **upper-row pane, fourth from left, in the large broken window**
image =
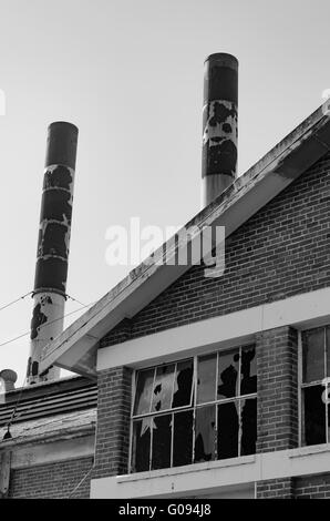
<path fill-rule="evenodd" d="M 214 401 L 216 397 L 216 362 L 217 355 L 198 358 L 197 368 L 197 403 Z"/>

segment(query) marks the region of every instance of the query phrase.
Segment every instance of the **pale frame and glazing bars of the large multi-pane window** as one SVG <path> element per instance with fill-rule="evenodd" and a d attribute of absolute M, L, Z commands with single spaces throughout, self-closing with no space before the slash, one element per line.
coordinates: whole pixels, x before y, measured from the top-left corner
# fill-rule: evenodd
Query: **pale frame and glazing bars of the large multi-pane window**
<path fill-rule="evenodd" d="M 195 356 L 190 356 L 190 357 L 185 357 L 185 358 L 179 358 L 179 359 L 174 359 L 174 360 L 166 360 L 164 361 L 163 364 L 157 364 L 157 365 L 153 365 L 153 366 L 145 366 L 145 367 L 140 367 L 138 369 L 135 369 L 133 371 L 133 378 L 132 378 L 132 407 L 131 407 L 131 417 L 130 417 L 130 457 L 128 457 L 128 473 L 141 473 L 141 472 L 144 472 L 144 471 L 136 471 L 136 470 L 133 470 L 132 469 L 132 463 L 133 463 L 133 453 L 134 453 L 134 448 L 133 448 L 133 443 L 134 443 L 134 421 L 136 420 L 142 420 L 144 418 L 153 418 L 155 416 L 159 417 L 159 416 L 166 416 L 166 415 L 171 415 L 172 416 L 172 419 L 171 419 L 171 467 L 164 467 L 164 468 L 168 468 L 168 469 L 174 469 L 174 468 L 178 468 L 178 466 L 173 466 L 173 454 L 174 454 L 174 451 L 173 451 L 173 447 L 174 447 L 174 415 L 176 413 L 179 413 L 179 412 L 183 412 L 183 411 L 192 411 L 193 412 L 193 427 L 192 427 L 192 462 L 190 463 L 187 463 L 187 464 L 198 464 L 200 462 L 196 461 L 195 462 L 195 422 L 196 422 L 196 411 L 198 409 L 202 409 L 202 408 L 205 408 L 205 407 L 214 407 L 215 408 L 215 429 L 214 429 L 214 437 L 215 437 L 215 440 L 214 440 L 214 446 L 215 446 L 215 461 L 221 461 L 223 459 L 225 458 L 217 458 L 217 439 L 218 439 L 218 406 L 219 405 L 224 405 L 224 403 L 230 403 L 230 402 L 234 402 L 237 405 L 237 416 L 238 416 L 238 439 L 237 439 L 237 456 L 235 458 L 240 458 L 243 457 L 241 454 L 241 433 L 243 433 L 243 425 L 241 425 L 241 412 L 243 412 L 243 401 L 247 401 L 248 399 L 256 399 L 257 400 L 257 397 L 258 397 L 258 394 L 257 394 L 257 387 L 256 387 L 256 391 L 255 392 L 249 392 L 249 394 L 246 394 L 246 395 L 241 395 L 241 353 L 245 351 L 245 350 L 249 350 L 249 349 L 255 349 L 255 353 L 256 353 L 256 344 L 245 344 L 245 345 L 240 345 L 240 346 L 233 346 L 230 348 L 223 348 L 223 349 L 215 349 L 215 350 L 212 350 L 212 351 L 207 351 L 207 353 L 200 353 L 198 355 L 195 355 Z M 233 397 L 229 397 L 229 398 L 216 398 L 217 397 L 217 387 L 219 385 L 218 382 L 218 370 L 219 370 L 219 356 L 224 355 L 224 354 L 229 354 L 230 351 L 238 351 L 239 354 L 239 364 L 238 364 L 238 376 L 237 376 L 237 381 L 239 382 L 239 390 L 237 391 L 237 395 L 236 396 L 233 396 Z M 198 358 L 203 358 L 205 356 L 208 356 L 208 355 L 216 355 L 216 386 L 215 386 L 215 399 L 212 400 L 212 401 L 205 401 L 205 402 L 202 402 L 202 403 L 197 403 L 197 378 L 198 378 L 198 375 L 197 375 L 197 369 L 198 369 Z M 255 354 L 255 357 L 256 357 L 256 354 Z M 134 406 L 135 406 L 135 399 L 136 399 L 136 392 L 137 392 L 137 377 L 138 377 L 138 372 L 141 371 L 144 371 L 144 370 L 148 370 L 148 369 L 153 369 L 154 370 L 154 380 L 153 380 L 153 387 L 152 389 L 154 389 L 155 387 L 155 378 L 156 378 L 156 374 L 157 374 L 157 368 L 158 367 L 162 367 L 162 366 L 167 366 L 167 365 L 172 365 L 174 364 L 175 365 L 175 372 L 174 375 L 176 375 L 176 368 L 177 368 L 177 365 L 178 364 L 182 364 L 184 361 L 187 361 L 187 360 L 192 360 L 193 361 L 193 378 L 192 378 L 192 389 L 190 389 L 190 401 L 189 401 L 189 405 L 185 405 L 185 406 L 179 406 L 179 407 L 175 407 L 175 408 L 169 408 L 169 409 L 164 409 L 164 410 L 161 410 L 161 411 L 153 411 L 152 410 L 152 403 L 153 403 L 153 398 L 151 397 L 151 406 L 149 406 L 149 410 L 148 412 L 145 412 L 145 413 L 141 413 L 141 415 L 134 415 Z M 256 376 L 257 376 L 257 371 L 256 371 Z M 173 380 L 173 389 L 172 389 L 172 399 L 173 399 L 173 390 L 174 390 L 174 385 L 175 385 L 175 376 L 174 376 L 174 380 Z M 153 392 L 153 391 L 152 391 Z M 256 418 L 256 421 L 257 421 L 257 418 Z M 145 470 L 145 472 L 153 472 L 153 471 L 157 471 L 158 469 L 152 469 L 152 453 L 153 453 L 153 432 L 152 432 L 153 429 L 151 429 L 151 441 L 149 441 L 149 466 L 148 466 L 148 469 Z M 257 441 L 257 440 L 256 440 Z"/>

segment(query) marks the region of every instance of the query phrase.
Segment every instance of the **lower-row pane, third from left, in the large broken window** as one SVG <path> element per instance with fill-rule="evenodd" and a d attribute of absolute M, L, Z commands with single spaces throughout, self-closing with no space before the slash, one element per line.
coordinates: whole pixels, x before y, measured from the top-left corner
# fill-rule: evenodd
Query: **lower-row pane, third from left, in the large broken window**
<path fill-rule="evenodd" d="M 173 466 L 193 462 L 193 411 L 174 415 Z"/>

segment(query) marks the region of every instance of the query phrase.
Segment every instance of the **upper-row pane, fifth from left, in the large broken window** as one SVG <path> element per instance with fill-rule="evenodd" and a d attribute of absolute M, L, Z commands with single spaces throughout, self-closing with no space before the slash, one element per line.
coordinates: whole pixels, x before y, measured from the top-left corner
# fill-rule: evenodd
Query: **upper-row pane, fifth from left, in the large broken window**
<path fill-rule="evenodd" d="M 239 351 L 219 353 L 218 399 L 238 395 Z"/>

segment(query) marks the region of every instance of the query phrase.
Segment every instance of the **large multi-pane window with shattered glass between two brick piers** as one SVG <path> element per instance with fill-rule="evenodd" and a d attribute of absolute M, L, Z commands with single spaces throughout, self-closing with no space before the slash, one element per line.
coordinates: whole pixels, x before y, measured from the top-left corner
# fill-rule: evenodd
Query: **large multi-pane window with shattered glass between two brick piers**
<path fill-rule="evenodd" d="M 254 346 L 136 374 L 131 471 L 255 453 Z"/>

